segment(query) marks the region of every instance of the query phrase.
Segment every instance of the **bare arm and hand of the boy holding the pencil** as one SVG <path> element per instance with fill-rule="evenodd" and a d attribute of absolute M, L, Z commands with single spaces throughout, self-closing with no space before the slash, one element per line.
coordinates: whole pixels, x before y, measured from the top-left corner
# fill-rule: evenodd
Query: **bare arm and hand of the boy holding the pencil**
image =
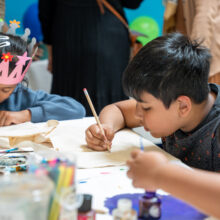
<path fill-rule="evenodd" d="M 135 115 L 136 103 L 135 100 L 129 99 L 107 105 L 101 111 L 100 122 L 110 143 L 118 130 L 141 126 L 140 119 Z M 88 146 L 94 150 L 107 150 L 107 146 L 109 146 L 97 124 L 91 125 L 86 130 L 86 141 Z"/>

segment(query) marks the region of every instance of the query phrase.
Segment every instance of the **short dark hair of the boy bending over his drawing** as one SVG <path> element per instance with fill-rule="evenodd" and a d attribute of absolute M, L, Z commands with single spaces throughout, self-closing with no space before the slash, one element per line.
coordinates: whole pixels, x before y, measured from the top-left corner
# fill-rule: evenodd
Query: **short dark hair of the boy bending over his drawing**
<path fill-rule="evenodd" d="M 166 108 L 181 95 L 199 104 L 209 93 L 210 59 L 207 48 L 180 33 L 158 37 L 145 45 L 125 69 L 124 91 L 138 101 L 142 92 L 148 92 Z"/>

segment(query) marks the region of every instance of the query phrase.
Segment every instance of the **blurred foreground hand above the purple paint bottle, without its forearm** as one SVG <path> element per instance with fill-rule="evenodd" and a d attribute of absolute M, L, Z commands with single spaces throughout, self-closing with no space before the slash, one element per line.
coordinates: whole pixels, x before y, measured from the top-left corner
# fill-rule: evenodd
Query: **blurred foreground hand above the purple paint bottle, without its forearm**
<path fill-rule="evenodd" d="M 127 161 L 127 175 L 133 180 L 135 187 L 155 190 L 160 170 L 166 164 L 166 157 L 159 152 L 144 153 L 135 150 L 131 153 L 131 159 Z"/>

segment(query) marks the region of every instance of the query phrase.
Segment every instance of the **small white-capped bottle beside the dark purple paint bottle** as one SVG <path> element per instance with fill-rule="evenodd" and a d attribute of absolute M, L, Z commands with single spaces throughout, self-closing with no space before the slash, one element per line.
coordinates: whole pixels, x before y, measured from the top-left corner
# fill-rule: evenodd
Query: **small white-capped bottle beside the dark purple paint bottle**
<path fill-rule="evenodd" d="M 130 199 L 119 199 L 117 208 L 112 211 L 114 220 L 136 220 L 137 213 L 132 209 Z"/>

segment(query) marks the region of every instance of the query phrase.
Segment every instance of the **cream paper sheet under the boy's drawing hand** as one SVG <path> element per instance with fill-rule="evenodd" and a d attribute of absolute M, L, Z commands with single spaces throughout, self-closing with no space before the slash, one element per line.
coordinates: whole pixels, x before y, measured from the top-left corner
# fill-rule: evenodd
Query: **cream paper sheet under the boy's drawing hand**
<path fill-rule="evenodd" d="M 61 123 L 54 132 L 51 133 L 50 139 L 55 149 L 64 152 L 71 157 L 77 156 L 77 166 L 79 168 L 93 168 L 124 165 L 130 158 L 130 153 L 134 149 L 140 149 L 140 136 L 130 129 L 119 131 L 112 144 L 111 152 L 97 152 L 88 148 L 85 141 L 85 130 L 92 124 L 92 121 L 86 122 L 81 120 L 78 126 L 68 122 Z M 95 121 L 93 121 L 95 123 Z M 151 141 L 143 138 L 144 151 L 161 151 L 169 160 L 178 161 L 170 154 L 164 152 Z"/>

